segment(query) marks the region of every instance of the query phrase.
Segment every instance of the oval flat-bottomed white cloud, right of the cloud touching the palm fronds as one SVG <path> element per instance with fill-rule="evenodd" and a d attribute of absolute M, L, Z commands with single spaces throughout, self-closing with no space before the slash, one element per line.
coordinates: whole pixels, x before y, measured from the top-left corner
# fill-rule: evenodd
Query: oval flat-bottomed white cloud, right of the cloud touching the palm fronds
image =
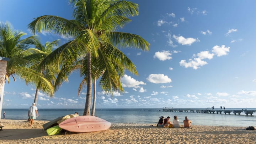
<path fill-rule="evenodd" d="M 171 79 L 164 74 L 150 74 L 148 78 L 146 78 L 151 83 L 170 83 Z"/>

